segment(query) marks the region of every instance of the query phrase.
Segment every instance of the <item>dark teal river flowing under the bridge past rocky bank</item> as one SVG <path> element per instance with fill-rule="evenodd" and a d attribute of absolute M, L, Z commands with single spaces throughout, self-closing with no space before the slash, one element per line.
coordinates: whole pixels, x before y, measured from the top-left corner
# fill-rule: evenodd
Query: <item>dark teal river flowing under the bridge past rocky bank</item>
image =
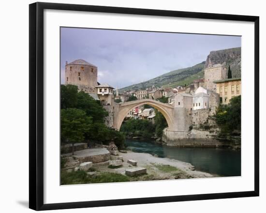
<path fill-rule="evenodd" d="M 133 152 L 157 154 L 161 158 L 191 163 L 195 170 L 228 177 L 241 175 L 241 151 L 229 148 L 167 147 L 149 140 L 126 140 Z"/>

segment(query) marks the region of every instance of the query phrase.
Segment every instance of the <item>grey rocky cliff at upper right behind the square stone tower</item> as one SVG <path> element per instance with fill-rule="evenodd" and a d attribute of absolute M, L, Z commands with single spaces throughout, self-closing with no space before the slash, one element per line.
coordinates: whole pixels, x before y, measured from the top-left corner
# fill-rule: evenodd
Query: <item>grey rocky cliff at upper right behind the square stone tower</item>
<path fill-rule="evenodd" d="M 232 70 L 233 78 L 241 78 L 241 48 L 211 51 L 207 56 L 205 68 L 215 64 L 224 64 Z"/>

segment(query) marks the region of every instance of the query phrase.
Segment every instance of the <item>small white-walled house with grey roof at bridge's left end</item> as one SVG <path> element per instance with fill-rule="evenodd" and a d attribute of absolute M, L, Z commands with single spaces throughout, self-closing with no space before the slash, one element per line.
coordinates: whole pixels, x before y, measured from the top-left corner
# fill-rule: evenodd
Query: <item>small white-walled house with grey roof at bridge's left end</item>
<path fill-rule="evenodd" d="M 103 83 L 95 87 L 97 88 L 97 94 L 102 105 L 114 105 L 114 87 L 110 86 L 107 83 Z"/>

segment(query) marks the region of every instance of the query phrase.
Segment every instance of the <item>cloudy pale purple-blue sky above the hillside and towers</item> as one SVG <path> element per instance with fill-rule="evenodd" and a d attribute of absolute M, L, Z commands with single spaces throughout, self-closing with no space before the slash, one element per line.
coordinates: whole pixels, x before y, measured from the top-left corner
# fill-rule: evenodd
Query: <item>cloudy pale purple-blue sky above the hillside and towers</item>
<path fill-rule="evenodd" d="M 194 66 L 212 50 L 241 46 L 241 37 L 61 28 L 61 83 L 65 62 L 98 67 L 98 82 L 122 88 Z"/>

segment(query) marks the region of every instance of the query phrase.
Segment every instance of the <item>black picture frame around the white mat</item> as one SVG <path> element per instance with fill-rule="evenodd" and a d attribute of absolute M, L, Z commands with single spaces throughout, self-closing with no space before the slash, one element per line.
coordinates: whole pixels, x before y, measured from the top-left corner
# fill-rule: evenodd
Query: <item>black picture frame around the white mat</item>
<path fill-rule="evenodd" d="M 254 191 L 44 204 L 44 9 L 254 22 Z M 259 196 L 259 17 L 61 3 L 30 4 L 30 194 L 33 210 L 177 202 Z"/>

